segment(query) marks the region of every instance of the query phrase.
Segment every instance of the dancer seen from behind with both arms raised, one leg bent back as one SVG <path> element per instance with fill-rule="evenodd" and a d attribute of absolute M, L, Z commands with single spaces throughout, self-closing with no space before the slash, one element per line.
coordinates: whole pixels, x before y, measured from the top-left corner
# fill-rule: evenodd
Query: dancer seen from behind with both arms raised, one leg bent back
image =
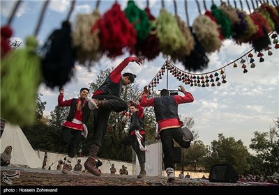
<path fill-rule="evenodd" d="M 162 141 L 164 153 L 164 165 L 167 171 L 167 182 L 174 182 L 174 164 L 173 148 L 174 141 L 182 148 L 189 148 L 190 142 L 193 141 L 193 133 L 187 127 L 183 127 L 183 122 L 179 119 L 178 105 L 194 101 L 193 95 L 187 92 L 183 86 L 179 86 L 184 96 L 169 95 L 167 89 L 160 92 L 160 98 L 147 99 L 149 95 L 147 87 L 144 87 L 144 93 L 140 100 L 142 107 L 154 107 L 156 121 L 158 123 L 158 134 Z"/>

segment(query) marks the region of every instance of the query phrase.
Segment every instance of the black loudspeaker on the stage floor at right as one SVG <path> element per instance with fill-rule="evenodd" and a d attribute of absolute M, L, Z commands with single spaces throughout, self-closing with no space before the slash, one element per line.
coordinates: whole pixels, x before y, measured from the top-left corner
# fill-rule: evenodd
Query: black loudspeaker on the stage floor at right
<path fill-rule="evenodd" d="M 239 178 L 239 174 L 234 167 L 229 164 L 216 164 L 211 167 L 209 173 L 209 181 L 211 182 L 229 182 L 235 183 Z"/>

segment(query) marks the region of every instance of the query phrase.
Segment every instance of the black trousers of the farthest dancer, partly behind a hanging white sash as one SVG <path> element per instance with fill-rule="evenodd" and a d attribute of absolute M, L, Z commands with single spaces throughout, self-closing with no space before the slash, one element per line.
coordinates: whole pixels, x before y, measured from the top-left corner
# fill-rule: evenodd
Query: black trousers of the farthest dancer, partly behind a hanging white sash
<path fill-rule="evenodd" d="M 123 145 L 132 146 L 133 150 L 137 155 L 137 159 L 139 160 L 140 164 L 145 163 L 145 151 L 140 150 L 140 143 L 137 141 L 136 135 L 128 135 L 124 137 L 121 141 Z M 145 147 L 145 134 L 142 134 L 142 146 Z"/>

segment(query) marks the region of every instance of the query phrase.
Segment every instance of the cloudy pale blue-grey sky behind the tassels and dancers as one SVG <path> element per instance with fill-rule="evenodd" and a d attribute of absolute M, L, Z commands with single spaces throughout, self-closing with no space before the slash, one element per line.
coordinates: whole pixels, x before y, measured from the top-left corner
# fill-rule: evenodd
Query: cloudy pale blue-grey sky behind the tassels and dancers
<path fill-rule="evenodd" d="M 126 8 L 127 1 L 118 1 L 121 8 Z M 135 1 L 140 8 L 146 7 L 146 1 Z M 184 1 L 176 1 L 178 4 L 178 14 L 181 19 L 186 21 Z M 13 8 L 15 1 L 1 1 L 1 26 L 6 24 L 10 11 Z M 99 10 L 100 13 L 105 13 L 110 9 L 114 1 L 101 1 Z M 216 2 L 219 6 L 220 1 Z M 239 2 L 238 2 L 239 3 Z M 151 13 L 158 16 L 160 12 L 161 1 L 149 1 Z M 233 1 L 231 4 L 234 5 Z M 244 5 L 245 4 L 245 5 Z M 96 1 L 77 1 L 70 21 L 74 22 L 77 13 L 91 13 L 95 8 Z M 34 33 L 35 26 L 38 21 L 40 9 L 43 6 L 43 1 L 23 1 L 16 13 L 16 17 L 12 22 L 14 31 L 14 38 L 24 40 L 29 35 Z M 206 1 L 206 7 L 210 8 L 211 1 Z M 238 8 L 240 5 L 237 4 Z M 204 6 L 200 1 L 202 13 L 204 13 Z M 38 33 L 38 41 L 40 44 L 45 42 L 47 36 L 52 33 L 54 29 L 60 28 L 61 22 L 66 19 L 68 10 L 70 8 L 70 1 L 51 1 L 47 7 L 47 12 L 43 19 L 43 24 L 40 26 Z M 165 8 L 169 13 L 174 14 L 173 1 L 165 1 Z M 243 3 L 243 8 L 248 13 L 246 3 Z M 198 16 L 199 12 L 195 1 L 188 1 L 188 13 L 190 25 Z M 272 40 L 271 40 L 272 41 Z M 199 132 L 199 139 L 204 144 L 209 145 L 211 141 L 218 139 L 218 134 L 223 133 L 225 137 L 234 137 L 234 139 L 241 139 L 245 146 L 249 146 L 250 140 L 254 137 L 253 132 L 268 132 L 271 127 L 274 127 L 273 120 L 278 117 L 278 49 L 274 49 L 271 44 L 272 56 L 268 56 L 266 51 L 263 51 L 264 62 L 259 63 L 257 54 L 254 54 L 255 68 L 248 66 L 247 73 L 243 73 L 240 60 L 236 61 L 237 68 L 232 65 L 224 68 L 226 74 L 226 84 L 214 87 L 197 87 L 185 85 L 187 91 L 193 94 L 195 101 L 190 104 L 179 105 L 179 114 L 182 116 L 193 116 L 195 126 L 193 130 Z M 233 40 L 223 41 L 220 51 L 215 52 L 209 56 L 208 68 L 202 70 L 204 73 L 212 72 L 223 68 L 228 63 L 239 59 L 240 56 L 246 54 L 252 46 L 249 44 L 237 45 Z M 109 59 L 103 57 L 99 63 L 93 65 L 91 71 L 82 65 L 75 66 L 75 75 L 65 88 L 65 99 L 75 98 L 79 94 L 80 88 L 89 87 L 89 83 L 95 81 L 100 69 L 116 67 L 129 54 L 124 54 L 116 59 Z M 248 59 L 244 56 L 243 59 Z M 153 61 L 144 61 L 143 65 L 130 63 L 124 72 L 133 72 L 137 75 L 136 82 L 143 88 L 149 84 L 156 73 L 163 66 L 166 59 L 160 55 Z M 174 63 L 176 67 L 185 70 L 181 63 Z M 213 72 L 214 73 L 214 72 Z M 156 90 L 167 88 L 166 76 L 160 80 L 160 84 Z M 169 76 L 169 89 L 176 89 L 183 84 L 181 81 L 174 79 L 172 75 Z M 50 115 L 50 111 L 54 110 L 57 104 L 58 89 L 47 88 L 44 84 L 40 85 L 39 93 L 43 94 L 42 100 L 46 101 L 45 116 Z"/>

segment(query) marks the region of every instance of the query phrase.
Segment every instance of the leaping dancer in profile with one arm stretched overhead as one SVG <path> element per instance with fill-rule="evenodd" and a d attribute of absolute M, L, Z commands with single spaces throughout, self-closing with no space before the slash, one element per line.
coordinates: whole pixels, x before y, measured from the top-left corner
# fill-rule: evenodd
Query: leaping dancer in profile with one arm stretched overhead
<path fill-rule="evenodd" d="M 96 155 L 107 132 L 107 120 L 112 111 L 120 112 L 128 108 L 127 102 L 121 100 L 122 86 L 132 84 L 137 77 L 130 72 L 121 75 L 121 72 L 130 62 L 142 63 L 140 58 L 128 57 L 124 59 L 105 79 L 104 83 L 92 95 L 89 100 L 89 108 L 94 111 L 93 122 L 93 144 L 89 150 L 89 157 L 84 163 L 84 167 L 94 176 L 100 176 L 100 171 L 96 168 Z"/>

